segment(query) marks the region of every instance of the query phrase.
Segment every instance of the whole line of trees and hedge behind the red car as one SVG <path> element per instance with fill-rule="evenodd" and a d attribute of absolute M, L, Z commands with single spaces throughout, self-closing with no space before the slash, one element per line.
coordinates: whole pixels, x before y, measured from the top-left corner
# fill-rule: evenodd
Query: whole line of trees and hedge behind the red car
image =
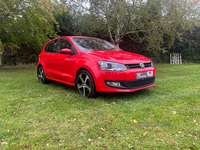
<path fill-rule="evenodd" d="M 200 0 L 1 0 L 4 63 L 34 63 L 57 36 L 99 37 L 120 48 L 169 62 L 181 53 L 200 62 Z"/>

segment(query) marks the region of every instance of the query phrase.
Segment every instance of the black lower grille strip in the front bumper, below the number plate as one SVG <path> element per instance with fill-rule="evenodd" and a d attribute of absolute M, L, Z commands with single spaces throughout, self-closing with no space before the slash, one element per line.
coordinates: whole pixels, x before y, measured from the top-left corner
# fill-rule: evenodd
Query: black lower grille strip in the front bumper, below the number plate
<path fill-rule="evenodd" d="M 121 86 L 118 86 L 118 87 L 115 86 L 114 88 L 136 89 L 136 88 L 142 88 L 142 87 L 153 85 L 155 82 L 155 77 L 139 79 L 139 80 L 131 80 L 131 81 L 105 81 L 105 83 L 107 82 L 120 82 Z M 112 87 L 108 84 L 106 85 L 109 87 Z"/>

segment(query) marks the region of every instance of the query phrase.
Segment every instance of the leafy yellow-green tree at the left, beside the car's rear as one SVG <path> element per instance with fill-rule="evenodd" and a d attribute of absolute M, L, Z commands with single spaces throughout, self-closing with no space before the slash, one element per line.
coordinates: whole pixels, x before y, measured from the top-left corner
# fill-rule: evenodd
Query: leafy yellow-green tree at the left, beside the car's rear
<path fill-rule="evenodd" d="M 57 22 L 52 15 L 57 5 L 51 0 L 1 0 L 1 43 L 15 48 L 27 44 L 41 51 L 49 38 L 57 36 L 54 32 Z"/>

